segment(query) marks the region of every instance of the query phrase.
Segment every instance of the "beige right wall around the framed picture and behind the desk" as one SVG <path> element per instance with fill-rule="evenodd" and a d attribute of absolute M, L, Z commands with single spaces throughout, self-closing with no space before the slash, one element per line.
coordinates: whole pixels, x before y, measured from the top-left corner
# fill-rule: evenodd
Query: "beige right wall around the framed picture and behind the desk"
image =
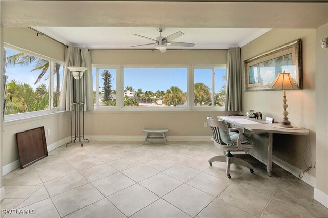
<path fill-rule="evenodd" d="M 284 43 L 297 38 L 302 39 L 303 49 L 303 90 L 286 91 L 288 100 L 289 120 L 292 125 L 301 126 L 310 131 L 310 144 L 312 150 L 312 164 L 316 160 L 316 84 L 315 84 L 315 29 L 273 29 L 268 33 L 253 40 L 241 48 L 242 61 L 262 52 L 276 48 Z M 242 70 L 243 90 L 245 88 L 244 68 Z M 243 112 L 253 109 L 263 113 L 263 117 L 273 117 L 276 121 L 283 118 L 282 91 L 243 91 Z M 273 154 L 291 163 L 292 165 L 306 169 L 303 160 L 303 152 L 306 147 L 306 137 L 275 135 Z M 310 152 L 306 150 L 306 161 L 310 163 Z M 316 176 L 316 170 L 309 171 Z"/>

